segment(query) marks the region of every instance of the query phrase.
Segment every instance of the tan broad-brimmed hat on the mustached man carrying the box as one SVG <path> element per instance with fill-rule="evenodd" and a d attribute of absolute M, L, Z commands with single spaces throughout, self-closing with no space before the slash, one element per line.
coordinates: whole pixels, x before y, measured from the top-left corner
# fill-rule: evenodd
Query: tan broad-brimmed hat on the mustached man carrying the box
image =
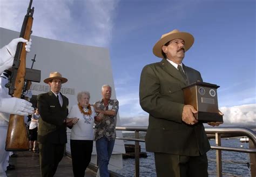
<path fill-rule="evenodd" d="M 153 53 L 155 56 L 159 58 L 164 58 L 162 55 L 162 46 L 165 45 L 167 42 L 173 39 L 183 39 L 185 41 L 185 51 L 188 51 L 190 47 L 194 43 L 194 37 L 188 33 L 188 32 L 176 32 L 176 33 L 171 33 L 170 35 L 167 35 L 160 40 L 156 44 L 154 44 L 153 47 Z"/>

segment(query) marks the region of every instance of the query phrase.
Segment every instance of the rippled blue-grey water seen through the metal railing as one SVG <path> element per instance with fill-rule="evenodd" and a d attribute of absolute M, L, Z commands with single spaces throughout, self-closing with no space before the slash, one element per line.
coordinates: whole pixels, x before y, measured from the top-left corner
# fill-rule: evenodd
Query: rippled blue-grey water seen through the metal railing
<path fill-rule="evenodd" d="M 125 144 L 134 144 L 134 142 L 126 141 Z M 215 140 L 210 140 L 210 144 L 215 146 Z M 221 145 L 226 147 L 248 148 L 248 143 L 242 143 L 238 138 L 221 139 Z M 145 143 L 140 142 L 140 147 L 142 152 L 146 151 Z M 215 150 L 207 152 L 208 173 L 211 177 L 216 176 L 215 155 Z M 222 151 L 222 159 L 223 176 L 251 176 L 250 168 L 247 167 L 247 163 L 250 163 L 250 154 Z M 123 159 L 123 169 L 118 169 L 114 172 L 127 177 L 134 176 L 134 159 Z M 147 152 L 147 158 L 140 158 L 140 176 L 156 176 L 153 153 Z"/>

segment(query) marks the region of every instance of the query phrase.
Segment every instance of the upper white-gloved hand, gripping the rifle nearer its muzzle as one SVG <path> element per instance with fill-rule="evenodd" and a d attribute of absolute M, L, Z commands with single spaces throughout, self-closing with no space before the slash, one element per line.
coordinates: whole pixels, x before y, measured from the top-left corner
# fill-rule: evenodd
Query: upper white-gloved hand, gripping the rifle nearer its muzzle
<path fill-rule="evenodd" d="M 18 43 L 19 42 L 26 43 L 26 45 L 25 45 L 26 51 L 30 52 L 30 47 L 32 44 L 31 41 L 32 41 L 31 39 L 29 39 L 29 41 L 28 41 L 22 37 L 12 39 L 11 42 L 8 45 L 6 45 L 6 48 L 10 52 L 12 58 L 14 58 Z"/>

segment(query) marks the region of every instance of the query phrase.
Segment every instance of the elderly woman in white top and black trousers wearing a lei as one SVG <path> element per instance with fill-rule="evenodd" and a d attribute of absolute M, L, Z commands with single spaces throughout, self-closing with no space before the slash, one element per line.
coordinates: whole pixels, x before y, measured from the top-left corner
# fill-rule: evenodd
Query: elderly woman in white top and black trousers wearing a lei
<path fill-rule="evenodd" d="M 78 93 L 77 101 L 78 104 L 72 106 L 68 115 L 68 118 L 78 118 L 73 122 L 70 138 L 73 174 L 75 177 L 84 176 L 85 169 L 91 161 L 93 122 L 96 116 L 93 106 L 89 104 L 89 92 Z"/>

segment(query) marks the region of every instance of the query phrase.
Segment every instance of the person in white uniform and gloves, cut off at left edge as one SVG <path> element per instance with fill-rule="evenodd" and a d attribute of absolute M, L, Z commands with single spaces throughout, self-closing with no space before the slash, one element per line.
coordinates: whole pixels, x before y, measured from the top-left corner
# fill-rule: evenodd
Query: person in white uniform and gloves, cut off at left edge
<path fill-rule="evenodd" d="M 0 49 L 0 176 L 5 177 L 6 166 L 9 152 L 5 151 L 5 138 L 8 128 L 10 114 L 28 115 L 32 113 L 32 104 L 26 100 L 12 97 L 8 94 L 9 90 L 5 87 L 8 83 L 10 71 L 6 70 L 11 67 L 18 42 L 26 42 L 26 51 L 30 51 L 31 40 L 23 38 L 13 39 L 8 45 Z M 4 71 L 5 70 L 5 71 Z"/>

